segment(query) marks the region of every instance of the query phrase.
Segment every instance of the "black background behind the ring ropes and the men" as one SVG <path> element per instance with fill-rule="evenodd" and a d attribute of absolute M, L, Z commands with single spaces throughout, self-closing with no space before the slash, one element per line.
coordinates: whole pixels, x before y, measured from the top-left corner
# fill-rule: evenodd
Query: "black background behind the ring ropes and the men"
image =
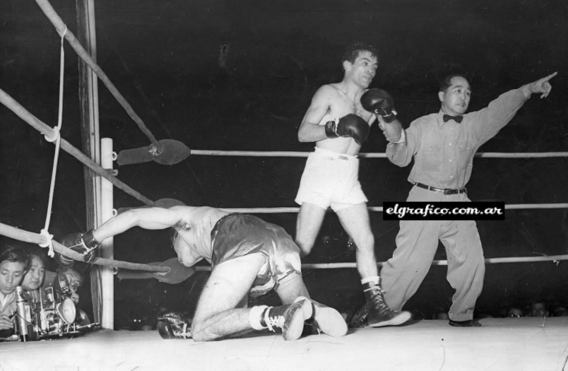
<path fill-rule="evenodd" d="M 76 32 L 75 3 L 52 5 Z M 296 138 L 312 94 L 343 77 L 341 52 L 361 40 L 380 50 L 371 87 L 395 98 L 404 125 L 436 112 L 438 79 L 466 73 L 473 88 L 470 111 L 500 93 L 554 71 L 552 94 L 533 96 L 506 128 L 480 151 L 568 150 L 564 0 L 397 1 L 95 1 L 97 62 L 158 139 L 174 138 L 191 149 L 310 151 Z M 0 3 L 0 88 L 53 127 L 59 99 L 60 37 L 33 1 Z M 226 64 L 219 49 L 228 45 Z M 81 147 L 77 56 L 65 43 L 62 137 Z M 99 82 L 103 137 L 115 151 L 148 145 L 148 139 Z M 0 221 L 39 232 L 44 227 L 53 145 L 0 107 L 2 171 Z M 386 142 L 371 130 L 362 152 L 383 152 Z M 119 178 L 149 199 L 225 208 L 296 206 L 304 158 L 204 157 L 174 166 L 144 163 L 115 168 Z M 470 198 L 507 204 L 566 203 L 565 158 L 477 158 Z M 363 159 L 360 178 L 369 205 L 406 199 L 410 166 Z M 55 238 L 86 228 L 82 166 L 61 153 L 49 228 Z M 122 191 L 116 208 L 141 206 Z M 295 214 L 266 214 L 295 233 Z M 377 259 L 394 250 L 395 221 L 371 213 Z M 565 254 L 566 209 L 509 210 L 505 221 L 481 221 L 488 258 Z M 155 262 L 174 256 L 166 231 L 133 229 L 115 238 L 115 258 Z M 354 251 L 334 214 L 324 222 L 306 263 L 354 262 Z M 445 259 L 443 249 L 437 259 Z M 50 263 L 51 264 L 51 263 Z M 490 264 L 477 312 L 498 315 L 534 300 L 567 302 L 566 263 Z M 206 273 L 179 285 L 155 280 L 116 280 L 117 327 L 134 317 L 152 322 L 160 307 L 191 312 Z M 362 303 L 355 269 L 307 270 L 312 296 L 351 311 Z M 87 285 L 88 286 L 88 285 Z M 333 289 L 330 289 L 333 288 Z M 88 288 L 87 288 L 88 289 Z M 87 290 L 85 289 L 85 290 Z M 191 292 L 191 294 L 187 294 Z M 431 318 L 447 309 L 452 289 L 445 267 L 433 267 L 408 303 Z M 89 306 L 88 292 L 84 305 Z M 273 298 L 267 298 L 272 301 Z"/>

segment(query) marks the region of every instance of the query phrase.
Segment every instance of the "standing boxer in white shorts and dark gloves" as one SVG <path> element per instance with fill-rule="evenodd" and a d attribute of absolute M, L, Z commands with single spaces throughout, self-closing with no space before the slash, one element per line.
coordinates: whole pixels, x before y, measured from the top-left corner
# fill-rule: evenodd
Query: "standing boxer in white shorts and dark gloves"
<path fill-rule="evenodd" d="M 374 327 L 401 324 L 411 317 L 406 311 L 390 310 L 383 301 L 367 199 L 358 180 L 357 154 L 375 117 L 387 138 L 398 140 L 392 134 L 400 135 L 390 97 L 375 100 L 373 111 L 381 108 L 377 115 L 361 106 L 361 96 L 377 73 L 377 56 L 371 45 L 350 45 L 343 56 L 343 80 L 315 92 L 298 130 L 298 140 L 315 142 L 315 151 L 307 159 L 295 199 L 300 204 L 296 243 L 304 255 L 314 247 L 329 206 L 355 242 L 368 323 Z"/>

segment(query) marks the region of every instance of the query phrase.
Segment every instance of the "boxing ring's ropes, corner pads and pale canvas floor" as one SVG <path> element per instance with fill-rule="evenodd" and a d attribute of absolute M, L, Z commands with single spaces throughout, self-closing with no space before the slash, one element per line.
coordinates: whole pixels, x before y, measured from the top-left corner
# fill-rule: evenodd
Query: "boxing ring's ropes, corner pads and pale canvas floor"
<path fill-rule="evenodd" d="M 126 99 L 110 82 L 102 69 L 82 49 L 74 35 L 66 28 L 55 10 L 44 0 L 36 0 L 61 36 L 61 48 L 66 39 L 83 61 L 122 104 L 140 130 L 147 135 L 146 147 L 110 154 L 121 166 L 154 161 L 172 165 L 191 156 L 203 157 L 253 157 L 253 158 L 303 158 L 307 152 L 294 151 L 224 151 L 189 149 L 173 140 L 156 140 L 133 112 Z M 63 55 L 63 52 L 62 52 Z M 61 75 L 63 71 L 61 70 Z M 62 94 L 60 95 L 62 96 Z M 57 127 L 49 127 L 20 105 L 7 92 L 0 89 L 0 102 L 20 119 L 44 135 L 55 147 L 54 167 L 48 216 L 45 228 L 39 233 L 7 224 L 0 224 L 0 234 L 19 241 L 39 244 L 78 261 L 83 258 L 77 252 L 55 241 L 49 234 L 49 219 L 56 178 L 57 155 L 62 149 L 89 168 L 96 176 L 105 179 L 134 199 L 148 206 L 169 207 L 183 204 L 176 199 L 152 200 L 122 182 L 112 172 L 111 166 L 101 166 L 60 136 L 62 101 Z M 365 159 L 385 159 L 385 153 L 361 153 Z M 568 157 L 568 152 L 548 153 L 478 153 L 476 158 L 553 158 Z M 112 191 L 111 191 L 112 192 Z M 508 210 L 566 209 L 568 203 L 506 204 Z M 232 212 L 251 214 L 297 213 L 296 207 L 276 208 L 222 208 Z M 381 213 L 382 206 L 369 206 L 369 212 Z M 55 216 L 57 217 L 57 216 Z M 486 264 L 539 263 L 558 265 L 568 260 L 568 254 L 543 256 L 503 256 L 487 258 Z M 174 272 L 178 267 L 163 264 L 123 262 L 98 256 L 91 264 L 111 268 L 110 272 L 128 276 L 137 271 L 137 278 L 163 280 L 178 283 Z M 383 262 L 377 263 L 379 266 Z M 447 265 L 446 260 L 435 260 L 433 265 Z M 315 269 L 354 269 L 354 262 L 303 263 L 304 271 Z M 198 271 L 210 267 L 199 265 Z M 136 274 L 130 275 L 136 278 Z M 103 286 L 104 290 L 104 286 Z M 99 298 L 100 300 L 100 298 Z M 568 317 L 484 318 L 480 328 L 453 328 L 445 320 L 411 321 L 400 327 L 350 329 L 343 338 L 327 335 L 304 336 L 296 342 L 285 342 L 279 334 L 263 333 L 259 336 L 229 339 L 221 342 L 195 343 L 193 340 L 162 340 L 157 331 L 113 331 L 111 326 L 84 336 L 65 340 L 41 342 L 10 342 L 0 345 L 0 369 L 206 369 L 206 370 L 565 370 L 568 368 Z M 104 327 L 104 326 L 103 326 Z M 519 346 L 523 344 L 523 346 Z M 375 367 L 376 365 L 376 367 Z"/>

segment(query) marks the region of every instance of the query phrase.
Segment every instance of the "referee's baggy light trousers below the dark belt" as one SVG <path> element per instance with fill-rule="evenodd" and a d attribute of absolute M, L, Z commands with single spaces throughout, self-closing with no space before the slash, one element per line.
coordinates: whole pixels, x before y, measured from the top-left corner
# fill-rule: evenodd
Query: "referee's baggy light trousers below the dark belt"
<path fill-rule="evenodd" d="M 469 201 L 466 193 L 444 195 L 413 187 L 407 201 Z M 475 302 L 483 288 L 485 262 L 477 225 L 465 221 L 400 221 L 396 250 L 381 269 L 385 301 L 392 310 L 400 310 L 416 293 L 428 273 L 438 241 L 448 259 L 446 278 L 456 290 L 448 317 L 454 321 L 473 319 Z"/>

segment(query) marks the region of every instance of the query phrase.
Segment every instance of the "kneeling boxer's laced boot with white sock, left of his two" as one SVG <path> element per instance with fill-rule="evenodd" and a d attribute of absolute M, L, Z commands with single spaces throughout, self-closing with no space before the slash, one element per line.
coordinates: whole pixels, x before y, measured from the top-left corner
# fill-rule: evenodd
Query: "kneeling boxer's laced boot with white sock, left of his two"
<path fill-rule="evenodd" d="M 300 296 L 291 304 L 265 307 L 260 315 L 260 326 L 270 331 L 279 327 L 284 340 L 297 340 L 302 335 L 304 321 L 312 317 L 312 313 L 312 303 Z"/>

